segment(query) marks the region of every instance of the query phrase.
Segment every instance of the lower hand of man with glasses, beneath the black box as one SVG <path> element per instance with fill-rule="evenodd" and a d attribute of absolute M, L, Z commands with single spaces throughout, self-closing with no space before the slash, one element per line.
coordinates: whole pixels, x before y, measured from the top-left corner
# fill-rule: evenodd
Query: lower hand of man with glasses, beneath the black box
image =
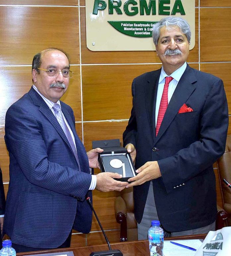
<path fill-rule="evenodd" d="M 109 192 L 109 191 L 121 191 L 127 185 L 128 182 L 122 182 L 115 180 L 114 178 L 122 178 L 122 175 L 113 172 L 101 172 L 96 175 L 96 189 L 102 192 Z"/>

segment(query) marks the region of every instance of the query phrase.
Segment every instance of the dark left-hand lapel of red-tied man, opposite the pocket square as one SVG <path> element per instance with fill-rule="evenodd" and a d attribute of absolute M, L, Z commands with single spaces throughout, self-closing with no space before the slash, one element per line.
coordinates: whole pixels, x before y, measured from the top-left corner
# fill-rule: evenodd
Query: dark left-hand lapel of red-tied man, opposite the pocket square
<path fill-rule="evenodd" d="M 158 89 L 158 82 L 160 78 L 161 69 L 154 71 L 150 74 L 145 81 L 145 97 L 146 97 L 146 109 L 148 114 L 148 121 L 151 127 L 153 139 L 155 138 L 156 125 L 155 125 L 155 112 L 156 112 L 156 95 Z"/>

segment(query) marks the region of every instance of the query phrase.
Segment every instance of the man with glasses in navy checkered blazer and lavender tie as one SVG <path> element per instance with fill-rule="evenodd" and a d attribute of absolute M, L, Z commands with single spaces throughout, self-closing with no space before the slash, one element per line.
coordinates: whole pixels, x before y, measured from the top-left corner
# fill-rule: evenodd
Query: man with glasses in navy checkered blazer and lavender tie
<path fill-rule="evenodd" d="M 7 111 L 5 142 L 10 183 L 3 233 L 16 252 L 69 247 L 71 230 L 89 233 L 91 190 L 122 190 L 115 173 L 91 175 L 100 148 L 86 153 L 73 110 L 59 99 L 69 85 L 69 60 L 58 49 L 34 56 L 30 91 Z M 55 106 L 61 112 L 55 110 Z M 61 113 L 58 117 L 57 113 Z"/>

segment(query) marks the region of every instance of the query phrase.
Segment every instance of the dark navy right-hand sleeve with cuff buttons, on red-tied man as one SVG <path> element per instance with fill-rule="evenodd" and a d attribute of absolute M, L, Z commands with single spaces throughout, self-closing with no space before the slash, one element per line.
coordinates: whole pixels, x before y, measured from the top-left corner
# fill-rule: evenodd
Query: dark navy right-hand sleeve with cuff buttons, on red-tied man
<path fill-rule="evenodd" d="M 223 82 L 220 79 L 216 79 L 211 86 L 198 126 L 199 140 L 179 150 L 173 156 L 158 160 L 168 192 L 177 184 L 187 182 L 211 166 L 211 163 L 224 153 L 228 129 L 228 107 Z"/>

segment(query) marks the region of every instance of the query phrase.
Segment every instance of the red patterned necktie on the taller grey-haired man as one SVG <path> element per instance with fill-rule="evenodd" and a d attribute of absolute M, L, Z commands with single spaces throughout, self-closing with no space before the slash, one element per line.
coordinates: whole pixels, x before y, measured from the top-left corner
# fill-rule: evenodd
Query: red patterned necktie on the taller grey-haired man
<path fill-rule="evenodd" d="M 165 77 L 164 90 L 163 90 L 163 94 L 162 94 L 162 97 L 161 97 L 160 107 L 159 107 L 159 112 L 158 112 L 158 117 L 157 117 L 157 122 L 156 122 L 156 136 L 159 132 L 160 125 L 162 123 L 162 120 L 164 118 L 164 114 L 165 114 L 166 109 L 168 107 L 168 87 L 169 87 L 169 83 L 172 80 L 173 80 L 172 77 Z"/>

